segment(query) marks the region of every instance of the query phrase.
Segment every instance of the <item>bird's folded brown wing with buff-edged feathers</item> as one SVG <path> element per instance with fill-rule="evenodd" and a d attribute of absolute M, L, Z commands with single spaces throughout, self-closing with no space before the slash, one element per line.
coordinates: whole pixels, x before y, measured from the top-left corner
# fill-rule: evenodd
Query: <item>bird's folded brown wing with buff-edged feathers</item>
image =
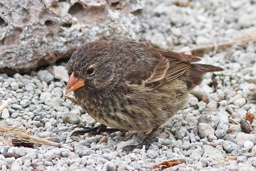
<path fill-rule="evenodd" d="M 191 62 L 200 58 L 193 55 L 179 54 L 174 51 L 159 50 L 141 43 L 132 43 L 135 51 L 136 70 L 130 73 L 131 84 L 156 88 L 165 84 L 192 67 Z"/>

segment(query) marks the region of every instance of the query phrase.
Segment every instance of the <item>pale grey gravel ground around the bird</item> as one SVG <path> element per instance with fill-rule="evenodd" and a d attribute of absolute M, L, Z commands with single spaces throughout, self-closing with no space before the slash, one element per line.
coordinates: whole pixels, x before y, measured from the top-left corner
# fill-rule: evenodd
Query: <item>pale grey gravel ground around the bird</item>
<path fill-rule="evenodd" d="M 198 0 L 190 2 L 191 8 L 184 7 L 188 2 L 147 1 L 141 41 L 186 51 L 228 41 L 256 28 L 256 1 L 234 0 L 224 4 L 220 0 Z M 66 83 L 53 78 L 52 66 L 28 75 L 0 74 L 0 104 L 12 98 L 12 104 L 0 112 L 0 124 L 21 123 L 34 136 L 75 149 L 71 152 L 50 146 L 10 147 L 0 142 L 0 169 L 152 170 L 162 161 L 185 159 L 186 163 L 167 170 L 256 170 L 256 120 L 251 123 L 251 134 L 229 121 L 231 117 L 240 122 L 247 113 L 256 115 L 255 60 L 256 43 L 205 54 L 202 63 L 225 68 L 225 72 L 216 73 L 216 90 L 210 86 L 212 73 L 206 74 L 184 109 L 155 133 L 158 142 L 149 147 L 144 158 L 140 149 L 130 154 L 121 152 L 122 147 L 143 140 L 142 133 L 116 132 L 92 137 L 85 134 L 72 140 L 74 124 L 98 123 L 84 114 L 81 107 L 64 100 Z M 230 156 L 236 156 L 235 160 L 229 160 Z"/>

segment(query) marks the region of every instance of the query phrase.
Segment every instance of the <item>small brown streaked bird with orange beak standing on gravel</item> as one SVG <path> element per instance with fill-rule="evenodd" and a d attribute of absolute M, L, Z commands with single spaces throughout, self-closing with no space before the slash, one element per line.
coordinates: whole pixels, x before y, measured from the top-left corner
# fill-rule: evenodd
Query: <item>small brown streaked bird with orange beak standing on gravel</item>
<path fill-rule="evenodd" d="M 96 41 L 79 47 L 68 62 L 66 93 L 101 126 L 75 131 L 151 133 L 130 151 L 150 144 L 154 132 L 180 110 L 206 72 L 222 68 L 197 64 L 200 58 L 136 42 Z M 111 127 L 114 129 L 106 129 Z"/>

